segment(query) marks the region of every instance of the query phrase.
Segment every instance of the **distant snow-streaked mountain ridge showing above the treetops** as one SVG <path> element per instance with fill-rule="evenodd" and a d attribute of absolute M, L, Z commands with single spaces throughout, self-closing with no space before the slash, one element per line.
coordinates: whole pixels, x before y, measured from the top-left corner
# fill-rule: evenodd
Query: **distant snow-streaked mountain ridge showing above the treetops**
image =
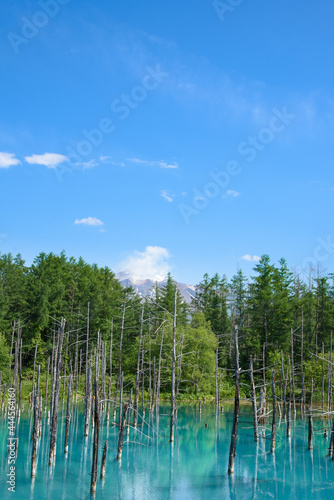
<path fill-rule="evenodd" d="M 154 297 L 154 287 L 157 281 L 151 279 L 137 280 L 132 278 L 127 272 L 117 273 L 116 278 L 120 281 L 121 285 L 131 286 L 141 297 Z M 157 283 L 161 287 L 166 284 L 166 280 L 158 281 Z M 191 299 L 196 295 L 196 286 L 178 282 L 176 282 L 176 285 L 184 302 L 190 304 Z"/>

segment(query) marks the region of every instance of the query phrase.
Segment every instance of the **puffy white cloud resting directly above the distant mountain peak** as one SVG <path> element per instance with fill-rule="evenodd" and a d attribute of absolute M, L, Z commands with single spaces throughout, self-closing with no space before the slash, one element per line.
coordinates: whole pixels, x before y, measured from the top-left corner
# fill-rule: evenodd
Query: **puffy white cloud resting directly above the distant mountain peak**
<path fill-rule="evenodd" d="M 121 263 L 120 268 L 137 281 L 162 281 L 171 269 L 169 258 L 170 254 L 166 248 L 148 246 L 144 252 L 133 252 L 133 255 Z"/>

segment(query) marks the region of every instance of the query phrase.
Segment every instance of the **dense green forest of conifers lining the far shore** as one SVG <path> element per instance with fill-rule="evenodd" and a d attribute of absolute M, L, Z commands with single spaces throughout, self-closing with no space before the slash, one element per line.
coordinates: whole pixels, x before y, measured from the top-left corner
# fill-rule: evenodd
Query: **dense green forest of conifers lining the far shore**
<path fill-rule="evenodd" d="M 110 351 L 108 370 L 115 375 L 122 363 L 124 383 L 134 388 L 138 345 L 141 375 L 148 391 L 161 363 L 161 391 L 170 389 L 173 315 L 176 283 L 168 275 L 155 286 L 152 298 L 141 298 L 123 287 L 108 267 L 89 265 L 65 253 L 39 254 L 27 266 L 21 255 L 0 255 L 0 370 L 10 382 L 13 339 L 20 329 L 25 378 L 33 364 L 43 368 L 52 351 L 61 317 L 66 318 L 64 363 L 72 373 L 86 362 L 86 335 L 99 338 Z M 240 369 L 284 363 L 293 348 L 296 376 L 310 373 L 321 385 L 322 359 L 332 356 L 334 320 L 333 275 L 310 269 L 303 279 L 263 255 L 246 277 L 241 270 L 230 281 L 205 274 L 190 305 L 177 291 L 176 390 L 179 396 L 199 396 L 219 390 L 233 393 L 234 329 L 240 339 Z M 140 339 L 141 335 L 141 339 Z M 319 385 L 319 386 L 320 386 Z M 153 389 L 152 389 L 153 390 Z M 150 396 L 150 395 L 149 395 Z"/>

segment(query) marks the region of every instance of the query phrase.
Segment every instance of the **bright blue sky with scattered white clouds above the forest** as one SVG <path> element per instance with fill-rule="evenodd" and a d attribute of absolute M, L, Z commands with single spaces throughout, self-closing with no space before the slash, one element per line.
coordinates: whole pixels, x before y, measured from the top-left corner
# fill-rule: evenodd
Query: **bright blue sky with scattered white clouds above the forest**
<path fill-rule="evenodd" d="M 330 0 L 3 2 L 0 251 L 334 271 Z"/>

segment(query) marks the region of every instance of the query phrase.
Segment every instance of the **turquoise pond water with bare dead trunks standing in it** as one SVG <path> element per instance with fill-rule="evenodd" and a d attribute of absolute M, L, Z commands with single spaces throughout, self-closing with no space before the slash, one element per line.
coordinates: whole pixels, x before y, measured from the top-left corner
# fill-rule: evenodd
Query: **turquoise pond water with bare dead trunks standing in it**
<path fill-rule="evenodd" d="M 233 406 L 225 404 L 225 413 L 215 407 L 184 404 L 178 409 L 174 446 L 168 442 L 168 406 L 156 414 L 146 414 L 135 434 L 124 444 L 121 462 L 115 461 L 117 430 L 109 431 L 101 417 L 99 466 L 102 446 L 108 439 L 105 480 L 98 474 L 96 498 L 99 499 L 312 499 L 334 498 L 334 461 L 328 457 L 328 440 L 324 438 L 321 419 L 314 421 L 314 449 L 307 449 L 307 422 L 297 418 L 292 423 L 292 437 L 285 437 L 285 423 L 277 430 L 276 452 L 271 454 L 271 426 L 262 427 L 263 436 L 254 443 L 251 408 L 241 407 L 235 474 L 227 475 Z M 205 426 L 207 424 L 207 428 Z M 64 419 L 59 419 L 57 458 L 54 469 L 48 463 L 49 427 L 43 417 L 43 432 L 38 449 L 37 474 L 30 477 L 32 421 L 24 413 L 19 422 L 19 449 L 16 459 L 16 491 L 6 485 L 7 421 L 1 429 L 1 498 L 21 499 L 89 499 L 92 435 L 83 438 L 82 408 L 74 411 L 69 455 L 63 453 Z M 91 431 L 90 431 L 91 432 Z"/>

